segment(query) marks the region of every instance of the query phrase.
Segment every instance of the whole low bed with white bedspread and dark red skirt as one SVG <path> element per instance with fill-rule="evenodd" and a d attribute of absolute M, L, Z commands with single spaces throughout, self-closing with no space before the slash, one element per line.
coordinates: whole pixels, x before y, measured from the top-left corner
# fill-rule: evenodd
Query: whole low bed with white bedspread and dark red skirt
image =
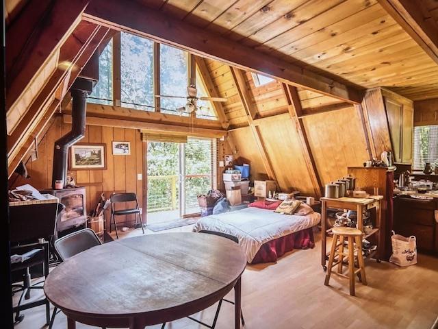
<path fill-rule="evenodd" d="M 248 263 L 275 262 L 292 249 L 314 247 L 313 226 L 321 215 L 283 215 L 273 210 L 245 208 L 199 219 L 194 232 L 210 230 L 237 236 Z"/>

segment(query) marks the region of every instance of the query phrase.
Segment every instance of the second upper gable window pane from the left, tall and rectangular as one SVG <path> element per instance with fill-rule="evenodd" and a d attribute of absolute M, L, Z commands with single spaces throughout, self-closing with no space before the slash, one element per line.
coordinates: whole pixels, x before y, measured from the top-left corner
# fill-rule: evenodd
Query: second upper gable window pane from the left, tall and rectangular
<path fill-rule="evenodd" d="M 121 32 L 121 102 L 125 108 L 153 111 L 153 41 Z"/>

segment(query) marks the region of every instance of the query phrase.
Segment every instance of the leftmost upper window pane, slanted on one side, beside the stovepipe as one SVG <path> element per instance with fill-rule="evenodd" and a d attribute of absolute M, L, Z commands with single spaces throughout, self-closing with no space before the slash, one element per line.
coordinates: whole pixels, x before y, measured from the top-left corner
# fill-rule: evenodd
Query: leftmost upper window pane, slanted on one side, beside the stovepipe
<path fill-rule="evenodd" d="M 90 103 L 112 105 L 112 40 L 99 56 L 99 82 L 88 97 Z"/>

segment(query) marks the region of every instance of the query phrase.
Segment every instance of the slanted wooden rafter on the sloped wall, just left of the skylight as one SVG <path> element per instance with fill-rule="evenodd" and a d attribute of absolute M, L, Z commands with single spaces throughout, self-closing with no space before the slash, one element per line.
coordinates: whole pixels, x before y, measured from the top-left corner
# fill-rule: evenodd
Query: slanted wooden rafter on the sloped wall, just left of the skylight
<path fill-rule="evenodd" d="M 248 93 L 248 88 L 244 80 L 244 73 L 242 72 L 242 70 L 236 69 L 235 67 L 232 66 L 230 66 L 230 70 L 231 70 L 231 75 L 233 77 L 233 82 L 237 89 L 237 94 L 240 97 L 240 101 L 242 102 L 242 107 L 244 108 L 246 113 L 246 119 L 248 120 L 248 125 L 250 127 L 251 132 L 253 132 L 255 143 L 257 144 L 257 148 L 259 149 L 260 152 L 261 160 L 263 160 L 263 165 L 266 169 L 266 173 L 268 174 L 270 180 L 274 180 L 276 186 L 279 187 L 279 182 L 276 179 L 276 175 L 272 167 L 272 162 L 269 158 L 269 154 L 266 149 L 265 143 L 263 142 L 263 137 L 261 136 L 260 127 L 254 124 L 256 111 L 251 101 L 250 95 Z"/>

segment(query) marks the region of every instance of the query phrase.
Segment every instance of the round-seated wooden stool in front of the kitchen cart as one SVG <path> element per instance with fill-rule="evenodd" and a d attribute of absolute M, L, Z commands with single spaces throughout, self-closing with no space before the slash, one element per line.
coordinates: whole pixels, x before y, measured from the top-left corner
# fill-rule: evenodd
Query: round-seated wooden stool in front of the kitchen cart
<path fill-rule="evenodd" d="M 355 295 L 355 275 L 360 274 L 362 284 L 367 284 L 365 276 L 365 263 L 362 256 L 362 232 L 356 228 L 339 227 L 333 228 L 333 242 L 331 244 L 331 252 L 329 256 L 329 265 L 327 267 L 326 280 L 324 284 L 329 285 L 331 269 L 337 265 L 337 274 L 343 278 L 350 279 L 350 295 Z M 348 240 L 348 254 L 344 254 L 344 240 Z M 339 244 L 338 244 L 339 241 Z M 355 268 L 355 251 L 357 251 L 357 263 L 359 269 Z M 333 264 L 333 260 L 337 257 L 336 263 Z M 348 257 L 348 276 L 342 273 L 344 256 Z"/>

